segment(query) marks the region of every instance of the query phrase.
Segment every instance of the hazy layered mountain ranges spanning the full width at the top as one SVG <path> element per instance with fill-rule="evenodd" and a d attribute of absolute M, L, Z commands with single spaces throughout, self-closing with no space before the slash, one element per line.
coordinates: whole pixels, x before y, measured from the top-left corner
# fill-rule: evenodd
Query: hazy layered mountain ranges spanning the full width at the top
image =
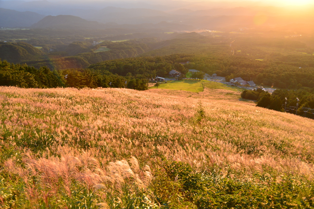
<path fill-rule="evenodd" d="M 213 30 L 225 27 L 254 28 L 267 25 L 281 27 L 291 24 L 314 24 L 314 6 L 300 7 L 274 7 L 257 6 L 258 3 L 247 2 L 247 7 L 211 8 L 218 3 L 190 3 L 183 1 L 157 0 L 138 2 L 122 1 L 90 1 L 52 3 L 49 1 L 1 1 L 0 10 L 1 27 L 32 27 L 54 29 L 162 29 L 173 31 Z M 161 6 L 164 5 L 164 8 Z M 198 5 L 204 5 L 204 9 Z M 244 3 L 243 3 L 244 4 Z M 99 8 L 96 8 L 96 5 Z M 105 8 L 101 6 L 111 5 Z M 117 8 L 112 5 L 120 5 Z M 149 6 L 150 5 L 150 6 Z M 157 9 L 153 8 L 155 5 Z M 212 5 L 212 6 L 210 6 Z M 227 4 L 226 4 L 227 5 Z M 238 3 L 241 5 L 241 3 Z M 132 8 L 143 7 L 143 8 Z M 17 11 L 9 10 L 14 8 Z M 32 12 L 25 12 L 29 9 Z M 37 13 L 34 13 L 37 12 Z M 50 14 L 44 18 L 44 15 Z M 291 29 L 294 30 L 294 29 Z M 309 29 L 310 31 L 310 29 Z M 143 31 L 142 31 L 143 32 Z"/>

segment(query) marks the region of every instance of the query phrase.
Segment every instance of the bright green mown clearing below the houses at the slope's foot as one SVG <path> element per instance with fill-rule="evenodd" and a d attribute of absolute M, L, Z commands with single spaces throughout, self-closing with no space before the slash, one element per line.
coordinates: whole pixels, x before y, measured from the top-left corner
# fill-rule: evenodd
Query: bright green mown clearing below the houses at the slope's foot
<path fill-rule="evenodd" d="M 192 91 L 200 92 L 203 91 L 203 86 L 212 89 L 225 89 L 230 91 L 239 91 L 238 88 L 232 88 L 231 86 L 226 86 L 222 83 L 212 82 L 212 81 L 196 81 L 191 79 L 186 79 L 182 81 L 167 81 L 167 83 L 160 83 L 158 89 L 171 89 L 171 90 L 183 90 L 183 91 Z M 151 86 L 151 89 L 156 89 L 156 86 Z"/>

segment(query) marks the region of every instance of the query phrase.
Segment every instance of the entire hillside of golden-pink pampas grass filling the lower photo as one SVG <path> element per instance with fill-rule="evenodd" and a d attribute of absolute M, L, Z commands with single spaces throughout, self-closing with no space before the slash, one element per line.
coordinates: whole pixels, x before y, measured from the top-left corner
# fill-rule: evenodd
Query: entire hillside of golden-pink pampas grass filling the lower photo
<path fill-rule="evenodd" d="M 0 87 L 0 205 L 313 208 L 314 121 L 239 98 Z"/>

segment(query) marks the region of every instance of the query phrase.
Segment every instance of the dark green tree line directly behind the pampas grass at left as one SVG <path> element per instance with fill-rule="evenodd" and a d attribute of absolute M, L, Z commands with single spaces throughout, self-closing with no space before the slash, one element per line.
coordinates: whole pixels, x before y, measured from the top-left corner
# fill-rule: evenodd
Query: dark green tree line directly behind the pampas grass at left
<path fill-rule="evenodd" d="M 22 88 L 131 88 L 146 90 L 148 79 L 138 76 L 119 76 L 109 71 L 66 69 L 51 71 L 47 67 L 35 69 L 28 65 L 10 64 L 0 60 L 0 86 Z"/>

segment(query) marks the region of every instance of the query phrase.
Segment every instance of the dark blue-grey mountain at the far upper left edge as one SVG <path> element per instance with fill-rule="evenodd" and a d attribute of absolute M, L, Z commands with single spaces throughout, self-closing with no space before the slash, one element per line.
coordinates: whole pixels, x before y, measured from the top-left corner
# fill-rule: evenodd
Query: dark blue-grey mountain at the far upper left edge
<path fill-rule="evenodd" d="M 37 23 L 44 17 L 45 15 L 35 12 L 18 12 L 11 9 L 0 8 L 0 27 L 30 27 L 32 24 Z"/>

